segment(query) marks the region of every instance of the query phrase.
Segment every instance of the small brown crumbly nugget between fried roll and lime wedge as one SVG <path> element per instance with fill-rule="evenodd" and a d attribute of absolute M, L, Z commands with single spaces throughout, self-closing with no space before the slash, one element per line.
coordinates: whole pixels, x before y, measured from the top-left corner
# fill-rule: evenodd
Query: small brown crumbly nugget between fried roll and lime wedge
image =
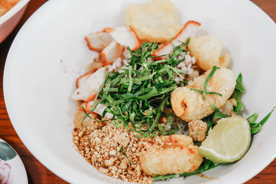
<path fill-rule="evenodd" d="M 194 141 L 202 142 L 205 139 L 207 124 L 201 120 L 194 120 L 188 123 L 189 136 L 193 138 Z"/>

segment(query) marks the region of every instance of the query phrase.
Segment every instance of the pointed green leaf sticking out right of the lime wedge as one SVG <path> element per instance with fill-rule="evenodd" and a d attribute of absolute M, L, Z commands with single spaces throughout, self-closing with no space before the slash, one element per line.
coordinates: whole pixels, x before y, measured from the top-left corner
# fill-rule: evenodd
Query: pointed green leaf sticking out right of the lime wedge
<path fill-rule="evenodd" d="M 250 129 L 251 129 L 251 134 L 256 134 L 257 132 L 259 132 L 259 130 L 262 128 L 262 126 L 267 122 L 268 118 L 271 116 L 271 113 L 273 113 L 274 109 L 276 107 L 273 107 L 273 109 L 268 113 L 268 115 L 266 115 L 266 117 L 264 117 L 260 122 L 256 122 L 257 118 L 258 118 L 258 114 L 257 113 L 253 113 L 253 115 L 249 116 L 247 118 L 249 125 L 250 125 Z"/>

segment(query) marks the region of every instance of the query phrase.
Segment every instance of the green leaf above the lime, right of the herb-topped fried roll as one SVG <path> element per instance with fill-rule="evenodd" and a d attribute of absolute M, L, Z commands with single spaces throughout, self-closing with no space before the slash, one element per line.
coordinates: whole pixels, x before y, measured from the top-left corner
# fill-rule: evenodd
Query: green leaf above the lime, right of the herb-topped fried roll
<path fill-rule="evenodd" d="M 236 86 L 235 90 L 233 92 L 233 95 L 230 98 L 235 98 L 237 101 L 237 106 L 234 106 L 233 109 L 235 113 L 239 114 L 239 111 L 242 111 L 244 109 L 244 105 L 242 104 L 241 95 L 242 93 L 245 93 L 246 90 L 244 88 L 244 85 L 242 84 L 242 73 L 239 73 L 236 80 Z"/>

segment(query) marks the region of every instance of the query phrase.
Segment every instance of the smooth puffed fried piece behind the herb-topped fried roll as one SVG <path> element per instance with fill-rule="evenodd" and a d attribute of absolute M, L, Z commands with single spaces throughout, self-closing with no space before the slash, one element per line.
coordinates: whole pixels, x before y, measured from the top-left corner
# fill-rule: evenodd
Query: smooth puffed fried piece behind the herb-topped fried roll
<path fill-rule="evenodd" d="M 213 66 L 226 68 L 230 63 L 228 54 L 219 57 L 222 44 L 217 37 L 206 35 L 191 38 L 188 48 L 190 49 L 190 55 L 195 57 L 197 65 L 204 71 L 208 71 Z"/>

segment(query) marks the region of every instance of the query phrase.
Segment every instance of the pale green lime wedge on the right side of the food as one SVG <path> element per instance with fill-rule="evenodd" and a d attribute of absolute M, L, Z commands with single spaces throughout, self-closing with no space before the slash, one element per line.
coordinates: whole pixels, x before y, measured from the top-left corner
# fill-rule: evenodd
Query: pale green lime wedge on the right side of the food
<path fill-rule="evenodd" d="M 199 153 L 214 163 L 232 163 L 246 154 L 251 132 L 248 121 L 242 116 L 222 118 L 201 143 Z"/>

